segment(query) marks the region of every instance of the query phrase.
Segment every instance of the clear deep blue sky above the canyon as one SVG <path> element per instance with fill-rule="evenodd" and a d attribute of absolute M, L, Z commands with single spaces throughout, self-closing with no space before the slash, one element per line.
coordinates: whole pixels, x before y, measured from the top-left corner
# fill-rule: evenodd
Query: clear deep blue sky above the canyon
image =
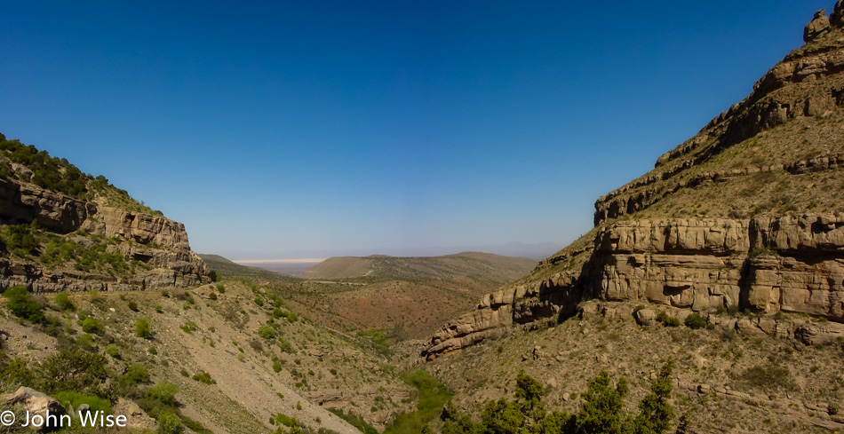
<path fill-rule="evenodd" d="M 4 0 L 0 132 L 203 253 L 563 245 L 833 4 Z"/>

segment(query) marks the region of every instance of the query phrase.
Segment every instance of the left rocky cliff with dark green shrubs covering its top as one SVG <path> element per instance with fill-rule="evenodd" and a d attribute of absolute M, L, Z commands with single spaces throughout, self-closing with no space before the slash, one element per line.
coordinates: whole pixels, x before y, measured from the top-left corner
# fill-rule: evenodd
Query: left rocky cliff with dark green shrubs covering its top
<path fill-rule="evenodd" d="M 34 146 L 0 135 L 0 147 L 0 286 L 113 291 L 206 279 L 184 225 Z"/>

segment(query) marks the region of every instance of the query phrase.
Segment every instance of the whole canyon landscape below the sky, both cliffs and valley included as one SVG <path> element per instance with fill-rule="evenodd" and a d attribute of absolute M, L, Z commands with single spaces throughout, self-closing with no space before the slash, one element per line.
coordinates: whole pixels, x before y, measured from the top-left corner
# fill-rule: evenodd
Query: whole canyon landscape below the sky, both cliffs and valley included
<path fill-rule="evenodd" d="M 243 266 L 0 135 L 0 413 L 128 420 L 60 432 L 840 432 L 844 2 L 805 40 L 538 263 Z"/>

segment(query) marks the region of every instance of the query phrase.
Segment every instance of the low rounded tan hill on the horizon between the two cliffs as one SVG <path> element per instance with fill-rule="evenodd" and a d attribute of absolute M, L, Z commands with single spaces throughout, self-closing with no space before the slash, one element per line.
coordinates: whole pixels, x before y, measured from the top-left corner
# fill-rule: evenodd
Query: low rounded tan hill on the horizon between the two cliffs
<path fill-rule="evenodd" d="M 467 277 L 506 283 L 522 277 L 537 265 L 524 257 L 464 252 L 426 257 L 330 257 L 307 269 L 306 279 L 383 278 L 404 280 L 453 280 Z"/>

